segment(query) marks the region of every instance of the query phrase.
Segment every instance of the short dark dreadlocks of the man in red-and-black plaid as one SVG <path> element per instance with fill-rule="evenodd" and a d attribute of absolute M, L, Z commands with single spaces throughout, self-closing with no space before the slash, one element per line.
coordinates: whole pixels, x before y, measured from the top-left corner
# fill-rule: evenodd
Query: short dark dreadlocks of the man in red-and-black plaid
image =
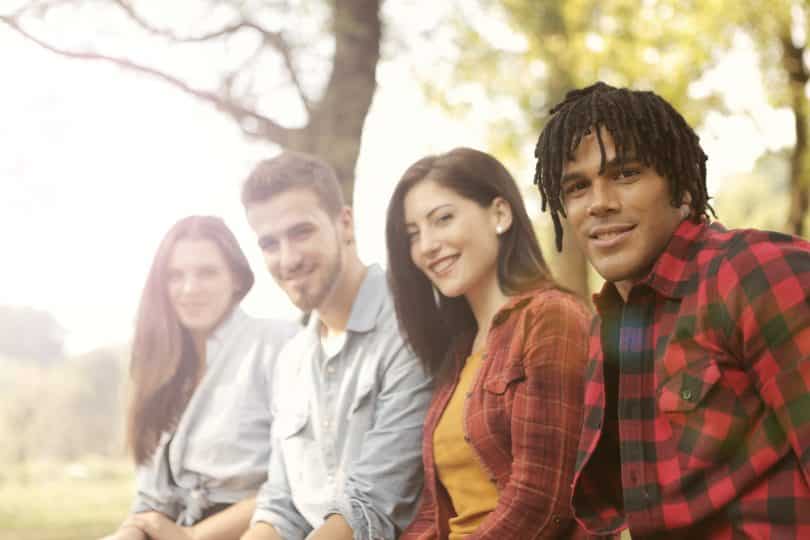
<path fill-rule="evenodd" d="M 600 128 L 611 137 L 619 164 L 638 160 L 666 178 L 670 200 L 678 207 L 685 193 L 692 200 L 691 219 L 708 219 L 714 209 L 706 191 L 706 153 L 700 138 L 672 105 L 654 92 L 615 88 L 597 82 L 572 90 L 555 105 L 534 150 L 537 158 L 534 183 L 554 222 L 557 250 L 562 251 L 562 224 L 565 216 L 560 182 L 563 167 L 574 159 L 574 151 L 584 135 L 596 133 L 602 154 L 600 174 L 605 169 L 605 147 Z"/>

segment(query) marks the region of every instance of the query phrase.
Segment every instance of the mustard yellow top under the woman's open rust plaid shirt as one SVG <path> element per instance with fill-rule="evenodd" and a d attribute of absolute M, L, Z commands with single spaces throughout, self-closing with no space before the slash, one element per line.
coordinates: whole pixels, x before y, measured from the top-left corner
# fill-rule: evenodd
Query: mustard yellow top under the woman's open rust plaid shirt
<path fill-rule="evenodd" d="M 498 489 L 490 481 L 470 443 L 464 439 L 466 396 L 475 382 L 481 361 L 480 352 L 467 358 L 458 386 L 433 432 L 436 473 L 456 511 L 456 516 L 450 518 L 449 540 L 460 540 L 475 532 L 498 504 Z"/>

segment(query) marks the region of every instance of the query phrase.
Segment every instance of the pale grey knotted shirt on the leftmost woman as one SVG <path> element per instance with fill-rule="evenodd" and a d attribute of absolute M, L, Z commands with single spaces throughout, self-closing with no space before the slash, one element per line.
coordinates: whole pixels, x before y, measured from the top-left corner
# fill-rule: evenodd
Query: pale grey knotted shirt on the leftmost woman
<path fill-rule="evenodd" d="M 174 433 L 137 468 L 133 512 L 190 525 L 205 509 L 255 494 L 270 459 L 271 376 L 297 325 L 235 309 L 206 344 L 206 370 Z"/>

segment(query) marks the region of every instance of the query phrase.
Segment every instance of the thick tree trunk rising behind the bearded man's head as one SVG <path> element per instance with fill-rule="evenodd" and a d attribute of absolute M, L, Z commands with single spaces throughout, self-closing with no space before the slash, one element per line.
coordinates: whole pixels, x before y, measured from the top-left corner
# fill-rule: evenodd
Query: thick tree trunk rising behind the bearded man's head
<path fill-rule="evenodd" d="M 332 74 L 308 124 L 291 134 L 288 147 L 318 155 L 335 167 L 351 205 L 363 124 L 377 88 L 380 0 L 335 0 L 332 24 Z"/>

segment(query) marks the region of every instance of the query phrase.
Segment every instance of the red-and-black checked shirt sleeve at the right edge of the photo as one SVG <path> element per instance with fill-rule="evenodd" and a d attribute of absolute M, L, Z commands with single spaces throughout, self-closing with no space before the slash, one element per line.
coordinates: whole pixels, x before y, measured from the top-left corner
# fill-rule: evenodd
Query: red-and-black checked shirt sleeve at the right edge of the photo
<path fill-rule="evenodd" d="M 810 483 L 810 245 L 776 233 L 767 240 L 729 247 L 720 297 L 739 358 L 772 411 L 768 438 L 787 437 Z"/>

